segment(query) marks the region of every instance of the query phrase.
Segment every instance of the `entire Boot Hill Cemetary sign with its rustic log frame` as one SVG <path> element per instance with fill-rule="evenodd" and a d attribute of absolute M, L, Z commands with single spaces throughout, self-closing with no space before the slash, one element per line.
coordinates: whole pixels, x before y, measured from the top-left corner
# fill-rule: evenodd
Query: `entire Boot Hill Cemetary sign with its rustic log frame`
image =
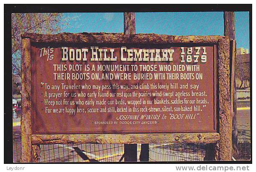
<path fill-rule="evenodd" d="M 215 159 L 231 156 L 224 36 L 26 34 L 21 66 L 23 161 L 58 143 L 214 143 Z"/>

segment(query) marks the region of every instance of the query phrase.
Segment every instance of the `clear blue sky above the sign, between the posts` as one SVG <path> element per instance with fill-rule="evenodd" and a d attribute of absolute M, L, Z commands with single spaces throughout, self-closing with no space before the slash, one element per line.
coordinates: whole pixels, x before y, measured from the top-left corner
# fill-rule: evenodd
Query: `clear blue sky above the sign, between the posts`
<path fill-rule="evenodd" d="M 136 12 L 136 33 L 164 35 L 224 34 L 223 12 Z M 62 32 L 123 33 L 123 13 L 64 13 Z M 249 12 L 235 12 L 238 47 L 250 49 Z"/>

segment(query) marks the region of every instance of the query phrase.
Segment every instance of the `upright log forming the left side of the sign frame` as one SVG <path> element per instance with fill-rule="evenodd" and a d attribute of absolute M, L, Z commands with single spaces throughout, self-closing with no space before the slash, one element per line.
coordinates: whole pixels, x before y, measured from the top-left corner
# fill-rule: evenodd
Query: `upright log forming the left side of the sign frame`
<path fill-rule="evenodd" d="M 21 162 L 32 161 L 30 39 L 21 40 Z"/>

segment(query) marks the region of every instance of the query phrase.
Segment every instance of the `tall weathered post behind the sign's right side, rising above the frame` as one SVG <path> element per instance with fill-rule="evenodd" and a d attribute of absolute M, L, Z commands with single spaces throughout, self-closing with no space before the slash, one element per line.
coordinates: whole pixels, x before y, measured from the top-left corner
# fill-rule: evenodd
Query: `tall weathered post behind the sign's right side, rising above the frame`
<path fill-rule="evenodd" d="M 234 12 L 224 12 L 224 36 L 230 40 L 229 59 L 230 59 L 230 113 L 232 115 L 232 155 L 238 156 L 238 130 L 237 130 L 237 97 L 235 83 L 235 14 Z"/>

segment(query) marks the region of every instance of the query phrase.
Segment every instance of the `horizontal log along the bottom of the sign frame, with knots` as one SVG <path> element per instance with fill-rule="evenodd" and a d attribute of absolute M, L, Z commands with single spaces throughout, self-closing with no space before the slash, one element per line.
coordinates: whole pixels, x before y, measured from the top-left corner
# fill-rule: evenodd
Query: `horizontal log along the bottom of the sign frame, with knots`
<path fill-rule="evenodd" d="M 214 143 L 219 133 L 129 133 L 129 134 L 33 134 L 32 144 L 120 143 Z"/>

